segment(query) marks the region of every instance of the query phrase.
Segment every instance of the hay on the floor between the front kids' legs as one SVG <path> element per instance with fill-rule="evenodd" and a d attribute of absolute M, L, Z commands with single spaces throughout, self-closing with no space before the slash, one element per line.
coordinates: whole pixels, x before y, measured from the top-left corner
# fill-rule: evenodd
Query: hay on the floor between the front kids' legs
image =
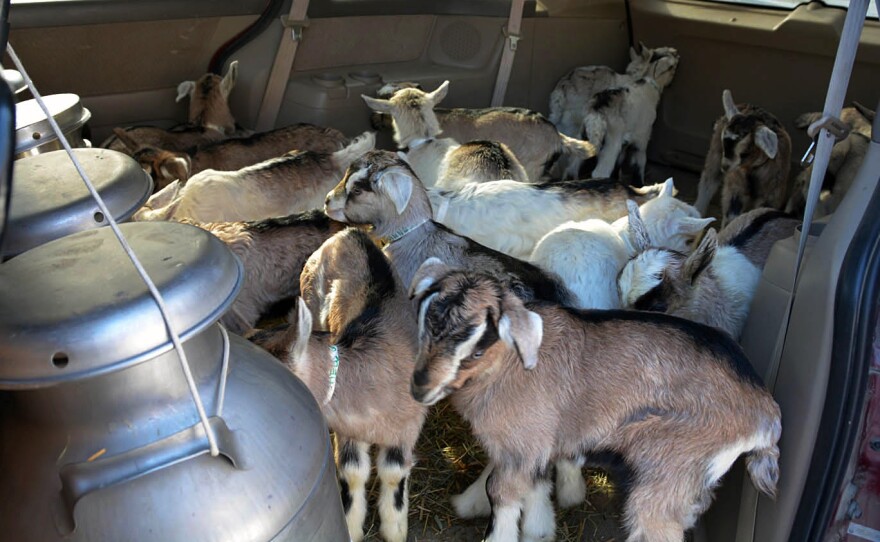
<path fill-rule="evenodd" d="M 410 479 L 410 542 L 479 542 L 487 518 L 463 520 L 456 517 L 449 498 L 477 479 L 486 456 L 448 402 L 434 406 L 425 421 L 416 446 L 417 464 Z M 375 470 L 375 469 L 374 469 Z M 557 510 L 556 540 L 559 542 L 622 541 L 621 499 L 601 470 L 584 469 L 587 499 L 584 504 Z M 379 484 L 372 478 L 369 515 L 364 532 L 368 542 L 381 542 L 376 512 Z"/>

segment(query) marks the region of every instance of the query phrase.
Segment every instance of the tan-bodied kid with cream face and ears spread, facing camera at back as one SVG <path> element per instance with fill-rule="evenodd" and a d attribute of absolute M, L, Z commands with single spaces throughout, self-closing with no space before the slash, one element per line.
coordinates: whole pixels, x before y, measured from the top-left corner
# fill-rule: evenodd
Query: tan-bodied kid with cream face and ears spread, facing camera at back
<path fill-rule="evenodd" d="M 596 155 L 592 144 L 560 134 L 534 111 L 511 107 L 435 109 L 448 89 L 446 81 L 430 93 L 403 88 L 389 100 L 363 98 L 374 111 L 391 114 L 395 141 L 401 147 L 411 148 L 413 141 L 433 138 L 441 131 L 459 142 L 498 141 L 513 152 L 531 182 L 547 176 L 560 158 L 568 164 L 566 175 L 576 177 L 580 163 Z"/>

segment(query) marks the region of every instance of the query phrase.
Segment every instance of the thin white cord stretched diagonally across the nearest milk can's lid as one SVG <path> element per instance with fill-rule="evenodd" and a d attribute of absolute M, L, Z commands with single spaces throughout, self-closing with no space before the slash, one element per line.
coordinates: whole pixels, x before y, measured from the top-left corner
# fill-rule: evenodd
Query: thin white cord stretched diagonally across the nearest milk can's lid
<path fill-rule="evenodd" d="M 113 230 L 113 233 L 116 235 L 116 238 L 119 240 L 119 243 L 122 245 L 122 249 L 128 255 L 129 259 L 131 259 L 131 263 L 134 265 L 135 270 L 137 270 L 138 274 L 143 279 L 144 283 L 147 285 L 147 289 L 150 290 L 150 294 L 152 294 L 153 299 L 156 300 L 156 305 L 159 307 L 159 312 L 162 315 L 162 320 L 165 322 L 165 327 L 168 329 L 168 335 L 171 337 L 171 343 L 174 345 L 174 349 L 177 351 L 178 359 L 180 360 L 180 366 L 183 369 L 183 375 L 186 377 L 187 386 L 189 386 L 190 395 L 193 398 L 193 402 L 196 405 L 196 410 L 199 413 L 199 419 L 201 420 L 202 426 L 205 428 L 205 434 L 208 437 L 208 446 L 211 450 L 211 455 L 216 457 L 220 454 L 220 450 L 217 447 L 217 437 L 214 434 L 214 430 L 211 428 L 211 425 L 208 423 L 208 416 L 205 413 L 205 407 L 202 404 L 202 399 L 199 396 L 199 390 L 196 388 L 195 380 L 193 379 L 192 371 L 189 367 L 189 362 L 186 359 L 186 353 L 183 351 L 183 345 L 180 342 L 180 337 L 177 332 L 174 331 L 174 328 L 171 326 L 171 320 L 168 316 L 168 309 L 165 306 L 165 300 L 162 298 L 162 294 L 159 293 L 159 289 L 156 287 L 156 284 L 150 279 L 150 276 L 147 274 L 146 269 L 144 269 L 140 260 L 138 260 L 131 246 L 126 241 L 125 237 L 122 235 L 122 231 L 119 229 L 119 224 L 116 223 L 116 220 L 113 218 L 113 214 L 107 208 L 107 205 L 104 203 L 104 200 L 101 199 L 101 196 L 98 194 L 98 191 L 95 189 L 95 186 L 89 180 L 88 175 L 83 170 L 82 165 L 77 160 L 76 155 L 73 154 L 73 149 L 70 147 L 70 143 L 67 142 L 67 138 L 61 132 L 61 128 L 58 126 L 58 123 L 55 122 L 55 119 L 52 118 L 52 114 L 49 112 L 49 108 L 46 107 L 46 103 L 43 101 L 43 97 L 37 92 L 36 86 L 34 86 L 33 81 L 31 81 L 30 76 L 27 71 L 24 69 L 24 66 L 21 63 L 21 60 L 18 58 L 18 55 L 15 54 L 15 49 L 13 49 L 12 44 L 7 44 L 6 51 L 9 53 L 9 57 L 12 59 L 12 62 L 15 64 L 15 67 L 21 72 L 22 77 L 27 83 L 28 88 L 31 91 L 31 94 L 34 95 L 34 99 L 40 106 L 40 109 L 43 110 L 43 113 L 46 115 L 46 119 L 49 121 L 49 124 L 52 126 L 52 130 L 55 131 L 55 135 L 58 136 L 58 140 L 61 142 L 61 145 L 64 146 L 64 150 L 67 151 L 67 155 L 70 156 L 71 161 L 73 161 L 73 166 L 76 168 L 80 177 L 82 177 L 83 182 L 86 184 L 86 188 L 88 188 L 89 193 L 91 193 L 92 198 L 98 203 L 98 207 L 101 209 L 101 212 L 104 213 L 104 216 L 107 218 L 109 222 L 110 229 Z M 225 331 L 224 331 L 225 334 Z M 228 348 L 228 337 L 226 337 Z M 228 356 L 227 356 L 228 357 Z M 222 369 L 223 374 L 225 374 L 225 365 L 228 360 L 224 357 L 224 367 Z M 224 388 L 225 388 L 225 376 L 223 377 Z M 221 390 L 222 392 L 223 390 Z M 222 397 L 222 393 L 221 393 Z M 222 406 L 222 403 L 221 403 Z"/>

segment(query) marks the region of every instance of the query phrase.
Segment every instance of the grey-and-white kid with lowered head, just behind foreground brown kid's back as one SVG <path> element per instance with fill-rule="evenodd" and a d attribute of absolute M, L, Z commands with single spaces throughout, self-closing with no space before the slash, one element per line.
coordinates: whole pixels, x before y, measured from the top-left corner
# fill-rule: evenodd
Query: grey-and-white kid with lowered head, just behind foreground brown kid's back
<path fill-rule="evenodd" d="M 790 237 L 797 223 L 773 209 L 756 210 L 723 230 L 727 244 L 719 246 L 710 229 L 690 255 L 650 248 L 643 236 L 642 252 L 620 273 L 623 306 L 681 316 L 737 338 L 770 249 Z"/>

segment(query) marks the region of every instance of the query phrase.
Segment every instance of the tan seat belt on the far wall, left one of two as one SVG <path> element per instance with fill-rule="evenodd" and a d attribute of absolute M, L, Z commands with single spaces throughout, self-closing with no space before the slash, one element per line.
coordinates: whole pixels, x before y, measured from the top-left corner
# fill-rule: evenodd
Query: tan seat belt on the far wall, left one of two
<path fill-rule="evenodd" d="M 309 9 L 309 0 L 292 0 L 290 12 L 281 16 L 281 42 L 275 53 L 275 63 L 269 73 L 266 83 L 266 91 L 263 101 L 260 103 L 260 111 L 257 114 L 257 132 L 266 132 L 275 128 L 278 112 L 281 110 L 281 100 L 287 89 L 290 72 L 293 70 L 293 60 L 296 58 L 296 50 L 302 41 L 303 28 L 309 25 L 306 12 Z"/>

